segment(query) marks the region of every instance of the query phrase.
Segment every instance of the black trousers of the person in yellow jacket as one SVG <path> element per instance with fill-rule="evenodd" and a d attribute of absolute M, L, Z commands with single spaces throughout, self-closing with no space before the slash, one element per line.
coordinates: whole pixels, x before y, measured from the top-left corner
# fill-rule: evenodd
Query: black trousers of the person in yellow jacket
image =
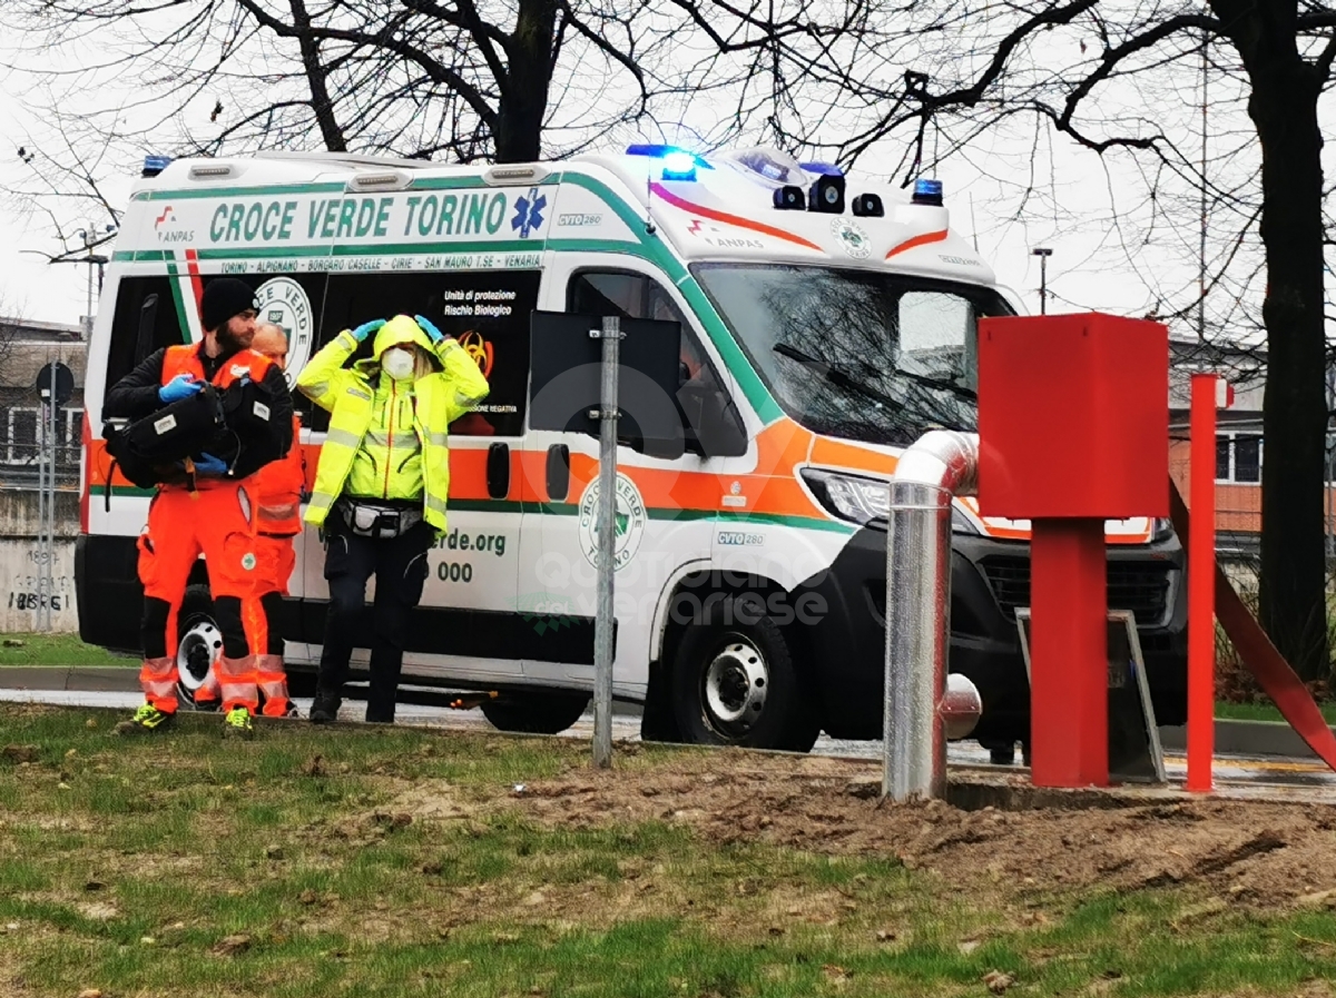
<path fill-rule="evenodd" d="M 436 534 L 422 520 L 397 538 L 362 538 L 349 530 L 337 508 L 330 511 L 325 530 L 325 579 L 330 586 L 330 608 L 317 695 L 341 699 L 353 648 L 370 647 L 371 683 L 366 719 L 390 723 L 394 720 L 409 616 L 422 599 L 429 571 L 426 552 Z M 375 603 L 370 627 L 365 628 L 366 580 L 373 574 Z"/>

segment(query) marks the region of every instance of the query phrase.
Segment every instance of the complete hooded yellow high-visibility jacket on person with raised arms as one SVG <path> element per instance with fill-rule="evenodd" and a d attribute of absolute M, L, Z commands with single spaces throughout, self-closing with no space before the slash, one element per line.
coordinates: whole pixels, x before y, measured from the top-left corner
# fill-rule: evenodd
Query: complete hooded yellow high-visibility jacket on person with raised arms
<path fill-rule="evenodd" d="M 441 370 L 391 388 L 390 378 L 379 374 L 379 358 L 399 343 L 424 348 L 440 360 Z M 426 522 L 445 532 L 450 491 L 448 430 L 486 398 L 488 382 L 458 343 L 448 338 L 433 344 L 406 315 L 395 316 L 377 332 L 373 360 L 345 368 L 357 347 L 357 339 L 345 330 L 310 359 L 297 379 L 302 394 L 330 412 L 306 522 L 325 523 L 343 492 L 386 499 L 421 495 Z M 397 446 L 391 432 L 399 434 Z M 415 442 L 405 439 L 407 432 Z"/>

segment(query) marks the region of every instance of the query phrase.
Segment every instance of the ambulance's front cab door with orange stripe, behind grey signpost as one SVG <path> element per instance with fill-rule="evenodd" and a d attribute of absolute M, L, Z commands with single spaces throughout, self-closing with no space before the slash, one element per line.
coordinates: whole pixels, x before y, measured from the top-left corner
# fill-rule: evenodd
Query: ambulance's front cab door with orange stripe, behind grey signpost
<path fill-rule="evenodd" d="M 680 324 L 683 386 L 724 387 L 723 370 L 701 343 L 685 303 L 657 271 L 631 256 L 562 260 L 550 271 L 564 288 L 566 312 L 659 319 Z M 550 306 L 549 306 L 550 307 Z M 684 419 L 685 423 L 685 419 Z M 617 447 L 616 666 L 619 695 L 643 695 L 656 610 L 683 566 L 708 564 L 719 484 L 725 458 L 705 458 L 689 427 L 679 458 L 648 456 Z M 599 507 L 599 440 L 585 434 L 529 432 L 528 448 L 548 456 L 544 502 L 525 518 L 520 594 L 541 596 L 556 654 L 525 659 L 525 675 L 540 682 L 588 686 L 593 682 L 596 615 L 595 518 Z M 557 451 L 557 455 L 553 455 Z M 553 494 L 556 491 L 557 494 Z M 530 536 L 532 535 L 532 536 Z"/>

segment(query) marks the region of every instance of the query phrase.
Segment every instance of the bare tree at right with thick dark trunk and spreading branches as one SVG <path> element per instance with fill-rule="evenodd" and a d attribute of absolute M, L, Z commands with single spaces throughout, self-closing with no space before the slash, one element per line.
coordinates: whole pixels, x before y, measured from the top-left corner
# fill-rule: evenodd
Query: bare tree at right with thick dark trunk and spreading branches
<path fill-rule="evenodd" d="M 1108 219 L 1133 267 L 1156 225 L 1186 221 L 1194 233 L 1198 203 L 1212 212 L 1225 237 L 1213 245 L 1206 279 L 1169 288 L 1148 311 L 1188 328 L 1196 319 L 1205 332 L 1209 296 L 1213 318 L 1236 334 L 1265 334 L 1260 614 L 1305 676 L 1325 676 L 1329 240 L 1319 104 L 1336 60 L 1336 5 L 863 0 L 827 23 L 842 29 L 794 32 L 791 17 L 760 20 L 741 8 L 732 21 L 737 37 L 767 55 L 754 97 L 775 109 L 772 127 L 791 145 L 824 149 L 844 164 L 895 149 L 882 169 L 907 183 L 935 160 L 967 156 L 987 136 L 1023 141 L 1027 132 L 1031 164 L 1047 136 L 1065 136 L 1097 157 L 1093 177 L 1140 176 L 1141 203 L 1129 213 L 1141 231 Z M 843 31 L 850 25 L 856 29 Z M 1193 120 L 1204 59 L 1210 107 L 1226 123 L 1209 160 Z M 806 103 L 794 97 L 799 80 Z M 1023 187 L 1027 209 L 1041 197 L 1035 184 Z M 1198 250 L 1194 239 L 1182 243 Z"/>

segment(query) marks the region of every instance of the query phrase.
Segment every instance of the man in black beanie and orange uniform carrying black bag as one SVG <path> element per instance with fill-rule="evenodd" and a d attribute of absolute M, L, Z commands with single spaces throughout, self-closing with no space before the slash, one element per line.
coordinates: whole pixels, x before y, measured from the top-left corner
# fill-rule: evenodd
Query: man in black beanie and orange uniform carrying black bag
<path fill-rule="evenodd" d="M 171 608 L 184 595 L 200 554 L 208 570 L 214 616 L 223 635 L 215 668 L 224 710 L 224 735 L 248 736 L 259 706 L 255 662 L 242 626 L 242 600 L 255 588 L 259 559 L 251 530 L 254 483 L 265 464 L 287 454 L 293 438 L 293 399 L 282 370 L 250 348 L 255 335 L 255 294 L 235 278 L 215 278 L 200 300 L 204 339 L 166 347 L 146 358 L 107 392 L 107 418 L 136 420 L 190 398 L 204 383 L 218 390 L 250 378 L 271 396 L 271 430 L 238 451 L 231 463 L 210 454 L 158 487 L 148 526 L 139 536 L 139 579 L 144 586 L 139 680 L 146 703 L 116 726 L 122 734 L 156 731 L 176 714 L 176 659 L 168 655 Z M 172 651 L 175 651 L 172 648 Z"/>

